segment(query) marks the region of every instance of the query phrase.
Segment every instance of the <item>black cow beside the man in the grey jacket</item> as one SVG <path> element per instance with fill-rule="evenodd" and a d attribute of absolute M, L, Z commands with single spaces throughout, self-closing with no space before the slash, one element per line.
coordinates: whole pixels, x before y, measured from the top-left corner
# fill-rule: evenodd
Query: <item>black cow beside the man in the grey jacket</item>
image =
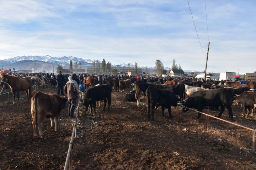
<path fill-rule="evenodd" d="M 91 108 L 94 108 L 94 115 L 96 114 L 96 101 L 104 100 L 103 112 L 105 112 L 107 100 L 108 100 L 108 112 L 110 111 L 111 105 L 111 92 L 112 87 L 108 84 L 98 85 L 94 87 L 90 87 L 84 94 L 83 101 L 85 110 L 88 111 L 89 105 Z"/>

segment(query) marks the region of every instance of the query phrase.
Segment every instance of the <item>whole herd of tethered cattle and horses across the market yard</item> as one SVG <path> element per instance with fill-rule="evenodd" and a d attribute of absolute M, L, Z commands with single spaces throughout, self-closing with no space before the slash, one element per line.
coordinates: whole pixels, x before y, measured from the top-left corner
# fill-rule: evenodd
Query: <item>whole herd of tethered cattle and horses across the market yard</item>
<path fill-rule="evenodd" d="M 12 75 L 0 74 L 1 84 L 8 84 L 13 92 L 14 103 L 15 94 L 19 101 L 19 91 L 26 91 L 27 102 L 31 100 L 31 115 L 33 118 L 32 124 L 34 129 L 34 136 L 37 136 L 37 128 L 39 135 L 43 135 L 42 126 L 45 118 L 50 118 L 51 127 L 57 130 L 57 120 L 60 111 L 65 108 L 66 97 L 58 95 L 49 95 L 43 92 L 37 92 L 31 98 L 31 86 L 33 81 L 41 82 L 37 78 L 18 78 Z M 89 108 L 94 110 L 96 114 L 96 102 L 104 101 L 103 111 L 105 111 L 106 103 L 108 101 L 108 112 L 111 106 L 111 94 L 115 92 L 125 92 L 127 87 L 132 87 L 133 90 L 128 92 L 125 100 L 137 101 L 137 106 L 140 106 L 140 98 L 146 98 L 148 118 L 154 120 L 154 109 L 161 106 L 162 116 L 164 117 L 165 108 L 168 110 L 169 117 L 171 115 L 171 106 L 176 107 L 177 103 L 186 108 L 195 108 L 202 112 L 205 107 L 220 110 L 218 117 L 221 117 L 224 109 L 228 109 L 228 114 L 233 120 L 233 112 L 231 105 L 234 100 L 237 104 L 241 104 L 247 115 L 251 108 L 256 111 L 256 92 L 250 89 L 256 89 L 256 82 L 248 82 L 247 85 L 240 85 L 239 83 L 228 83 L 224 85 L 221 81 L 201 81 L 201 80 L 187 80 L 187 79 L 135 79 L 135 78 L 114 78 L 108 77 L 105 81 L 97 81 L 94 76 L 84 77 L 86 84 L 86 91 L 81 97 L 81 101 L 85 105 L 86 110 Z M 54 82 L 54 80 L 53 80 Z M 42 83 L 42 82 L 41 82 Z M 53 83 L 55 84 L 55 83 Z M 100 85 L 97 85 L 100 84 Z M 235 88 L 224 88 L 224 87 Z M 188 109 L 183 107 L 183 112 Z M 220 109 L 219 109 L 220 108 Z M 201 114 L 198 113 L 198 119 Z M 54 125 L 55 124 L 55 125 Z M 54 126 L 53 126 L 54 125 Z"/>

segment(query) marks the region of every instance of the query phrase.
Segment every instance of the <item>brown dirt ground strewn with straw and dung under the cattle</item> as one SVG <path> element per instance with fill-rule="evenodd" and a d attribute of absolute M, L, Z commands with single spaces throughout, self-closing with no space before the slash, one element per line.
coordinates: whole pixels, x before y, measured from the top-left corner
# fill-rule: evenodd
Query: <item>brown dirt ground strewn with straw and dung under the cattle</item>
<path fill-rule="evenodd" d="M 41 91 L 56 93 L 56 89 Z M 74 169 L 256 169 L 251 131 L 212 118 L 206 131 L 204 116 L 197 120 L 195 112 L 182 113 L 178 106 L 172 107 L 172 119 L 167 111 L 162 118 L 158 108 L 151 121 L 145 100 L 137 108 L 136 102 L 124 101 L 124 95 L 112 92 L 109 113 L 102 112 L 102 105 L 95 116 L 80 111 Z M 19 106 L 13 106 L 7 95 L 0 96 L 0 169 L 63 169 L 74 119 L 67 117 L 66 107 L 57 132 L 46 119 L 44 137 L 33 137 L 30 104 L 24 102 L 23 97 Z M 217 115 L 207 109 L 203 112 Z M 234 122 L 255 127 L 255 117 L 243 118 L 236 104 L 233 113 Z M 222 118 L 230 120 L 227 115 L 225 111 Z"/>

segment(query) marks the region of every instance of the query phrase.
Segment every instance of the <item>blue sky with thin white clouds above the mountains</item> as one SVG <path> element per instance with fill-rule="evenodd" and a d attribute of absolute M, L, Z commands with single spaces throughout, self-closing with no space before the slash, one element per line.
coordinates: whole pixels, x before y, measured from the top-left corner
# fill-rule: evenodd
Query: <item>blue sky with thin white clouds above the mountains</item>
<path fill-rule="evenodd" d="M 159 59 L 171 67 L 175 59 L 184 70 L 203 71 L 210 42 L 207 72 L 256 71 L 255 0 L 0 0 L 0 4 L 0 60 L 75 56 L 150 67 Z"/>

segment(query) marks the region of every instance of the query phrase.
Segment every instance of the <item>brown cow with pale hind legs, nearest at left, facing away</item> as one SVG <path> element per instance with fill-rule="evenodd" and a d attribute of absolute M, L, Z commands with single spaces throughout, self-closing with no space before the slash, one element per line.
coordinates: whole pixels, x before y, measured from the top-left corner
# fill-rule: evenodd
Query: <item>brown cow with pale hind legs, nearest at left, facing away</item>
<path fill-rule="evenodd" d="M 45 118 L 50 118 L 51 128 L 57 130 L 57 121 L 60 111 L 65 108 L 67 98 L 60 97 L 56 94 L 49 95 L 43 92 L 37 92 L 31 98 L 31 115 L 32 125 L 34 129 L 34 136 L 37 136 L 37 127 L 39 135 L 43 136 L 43 121 Z"/>

